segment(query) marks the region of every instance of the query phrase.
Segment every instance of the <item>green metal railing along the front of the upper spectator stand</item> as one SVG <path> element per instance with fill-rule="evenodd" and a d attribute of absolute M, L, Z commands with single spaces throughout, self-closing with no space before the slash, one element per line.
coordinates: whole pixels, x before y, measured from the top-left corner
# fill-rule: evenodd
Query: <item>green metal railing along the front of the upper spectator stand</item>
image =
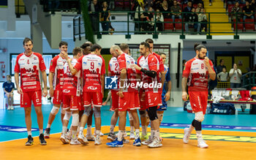
<path fill-rule="evenodd" d="M 143 12 L 140 12 L 140 14 L 142 14 Z M 157 12 L 153 12 L 154 15 Z M 162 13 L 166 13 L 166 12 L 162 12 Z M 170 12 L 167 12 L 170 13 Z M 184 26 L 186 25 L 186 23 L 188 23 L 185 20 L 185 15 L 189 14 L 191 12 L 181 12 L 181 20 L 180 21 L 175 21 L 173 22 L 173 20 L 170 19 L 168 21 L 164 21 L 163 23 L 163 28 L 164 28 L 164 24 L 165 26 L 167 26 L 167 23 L 171 23 L 172 26 L 179 26 L 179 29 L 176 28 L 176 30 L 166 30 L 164 28 L 163 31 L 157 31 L 157 20 L 156 18 L 154 18 L 154 21 L 143 21 L 141 20 L 141 18 L 134 18 L 135 12 L 132 11 L 110 11 L 111 15 L 123 15 L 125 17 L 124 20 L 110 20 L 110 21 L 99 21 L 99 12 L 94 12 L 91 13 L 91 15 L 94 14 L 94 16 L 97 16 L 97 21 L 94 21 L 92 23 L 96 23 L 97 25 L 99 25 L 98 28 L 100 28 L 101 23 L 126 23 L 127 27 L 123 28 L 122 30 L 119 31 L 115 31 L 116 34 L 125 34 L 127 38 L 130 38 L 131 34 L 153 34 L 154 38 L 157 38 L 158 34 L 180 34 L 180 38 L 184 39 L 185 38 L 185 34 L 205 34 L 207 39 L 211 39 L 211 35 L 213 34 L 231 34 L 234 35 L 234 39 L 239 39 L 239 34 L 256 34 L 255 32 L 255 22 L 243 22 L 241 20 L 237 20 L 238 19 L 238 15 L 242 15 L 243 13 L 232 13 L 233 15 L 236 15 L 236 20 L 234 20 L 233 22 L 230 22 L 230 18 L 227 19 L 227 21 L 225 22 L 221 22 L 221 21 L 217 21 L 215 20 L 211 20 L 211 18 L 213 17 L 212 15 L 217 15 L 219 16 L 227 16 L 230 13 L 228 12 L 206 12 L 207 15 L 207 22 L 197 22 L 202 24 L 207 24 L 207 32 L 197 32 L 197 31 L 185 31 L 184 30 Z M 138 15 L 140 15 L 138 14 Z M 83 18 L 79 18 L 80 15 L 78 17 L 74 18 L 74 39 L 75 37 L 80 37 L 81 35 L 85 34 L 84 31 L 84 26 L 81 25 L 83 24 L 83 22 L 77 22 L 78 20 L 83 20 Z M 154 24 L 151 28 L 151 30 L 149 31 L 145 31 L 143 30 L 143 28 L 141 26 L 143 26 L 143 24 L 146 23 L 152 23 Z M 230 26 L 228 28 L 230 28 L 230 31 L 214 31 L 212 29 L 212 25 L 214 23 L 221 23 L 221 24 L 229 24 Z M 80 24 L 80 25 L 79 25 Z M 177 25 L 176 25 L 177 24 Z M 246 24 L 251 24 L 251 30 L 252 31 L 244 31 L 244 26 Z M 253 24 L 253 25 L 252 25 Z M 131 28 L 131 26 L 135 26 L 135 28 Z M 252 27 L 253 26 L 253 27 Z M 233 30 L 231 29 L 233 28 Z M 224 28 L 225 30 L 225 28 Z M 101 38 L 101 34 L 108 34 L 109 31 L 95 31 L 94 29 L 94 34 L 97 34 L 98 38 Z"/>

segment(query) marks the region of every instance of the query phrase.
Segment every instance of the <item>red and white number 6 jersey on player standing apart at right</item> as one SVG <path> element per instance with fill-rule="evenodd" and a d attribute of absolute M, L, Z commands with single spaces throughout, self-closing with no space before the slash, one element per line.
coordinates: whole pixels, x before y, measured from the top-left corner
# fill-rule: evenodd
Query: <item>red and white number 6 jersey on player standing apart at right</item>
<path fill-rule="evenodd" d="M 209 63 L 214 70 L 214 65 L 210 60 Z M 182 77 L 188 77 L 187 85 L 189 87 L 207 90 L 208 75 L 208 68 L 206 67 L 204 59 L 192 58 L 185 64 Z"/>

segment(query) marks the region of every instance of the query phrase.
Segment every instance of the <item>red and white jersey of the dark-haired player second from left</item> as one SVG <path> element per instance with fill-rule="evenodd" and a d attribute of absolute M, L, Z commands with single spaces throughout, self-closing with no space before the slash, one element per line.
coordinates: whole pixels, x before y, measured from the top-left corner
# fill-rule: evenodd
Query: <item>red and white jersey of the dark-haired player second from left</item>
<path fill-rule="evenodd" d="M 55 56 L 50 61 L 50 72 L 54 73 L 53 77 L 53 89 L 54 90 L 62 90 L 63 83 L 64 83 L 64 64 L 66 64 L 67 61 L 65 58 L 62 58 L 61 56 Z"/>

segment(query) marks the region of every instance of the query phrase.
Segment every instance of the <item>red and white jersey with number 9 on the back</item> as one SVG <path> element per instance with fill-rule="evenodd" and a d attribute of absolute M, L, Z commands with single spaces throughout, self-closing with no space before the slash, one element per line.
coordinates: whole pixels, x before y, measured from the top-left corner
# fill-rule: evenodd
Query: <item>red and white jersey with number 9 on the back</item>
<path fill-rule="evenodd" d="M 83 91 L 102 92 L 101 75 L 105 75 L 105 60 L 102 56 L 89 54 L 82 56 L 75 64 L 75 69 L 82 69 L 83 72 Z"/>

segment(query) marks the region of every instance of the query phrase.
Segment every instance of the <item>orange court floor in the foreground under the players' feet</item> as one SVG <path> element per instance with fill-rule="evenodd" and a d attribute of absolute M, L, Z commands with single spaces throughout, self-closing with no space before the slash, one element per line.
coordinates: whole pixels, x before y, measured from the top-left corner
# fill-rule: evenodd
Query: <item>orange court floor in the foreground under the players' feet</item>
<path fill-rule="evenodd" d="M 117 128 L 117 127 L 116 127 Z M 129 129 L 129 128 L 127 128 Z M 102 126 L 107 134 L 109 126 Z M 34 145 L 25 146 L 26 139 L 0 142 L 1 159 L 256 159 L 255 132 L 203 131 L 209 148 L 197 148 L 197 140 L 189 144 L 182 142 L 183 129 L 160 129 L 164 140 L 162 148 L 134 147 L 132 141 L 123 148 L 109 148 L 105 145 L 107 135 L 102 137 L 102 145 L 62 145 L 61 134 L 51 134 L 48 145 L 39 145 L 34 137 Z M 164 134 L 165 133 L 165 134 Z M 194 132 L 192 134 L 195 134 Z M 238 137 L 239 138 L 238 138 Z M 173 138 L 165 138 L 173 137 Z M 194 136 L 195 137 L 195 136 Z M 210 138 L 209 138 L 210 137 Z M 214 138 L 215 137 L 215 138 Z M 222 138 L 219 138 L 222 137 Z M 226 139 L 226 140 L 225 140 Z M 244 142 L 235 142 L 241 141 Z"/>

